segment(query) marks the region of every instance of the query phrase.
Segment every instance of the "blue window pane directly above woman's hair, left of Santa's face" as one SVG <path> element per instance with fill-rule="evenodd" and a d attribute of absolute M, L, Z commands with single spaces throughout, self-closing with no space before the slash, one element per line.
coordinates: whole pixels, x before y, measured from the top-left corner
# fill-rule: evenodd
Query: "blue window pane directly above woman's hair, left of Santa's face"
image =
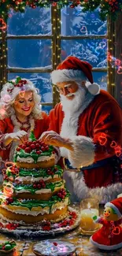
<path fill-rule="evenodd" d="M 16 76 L 31 80 L 35 87 L 39 88 L 39 93 L 42 96 L 41 102 L 53 102 L 50 73 L 8 73 L 8 80 L 12 80 Z"/>

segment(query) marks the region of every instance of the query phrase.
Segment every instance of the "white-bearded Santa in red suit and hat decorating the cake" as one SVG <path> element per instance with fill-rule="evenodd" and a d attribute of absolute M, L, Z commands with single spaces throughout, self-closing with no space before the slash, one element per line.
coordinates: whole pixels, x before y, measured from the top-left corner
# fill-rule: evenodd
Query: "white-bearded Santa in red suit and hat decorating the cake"
<path fill-rule="evenodd" d="M 50 131 L 42 135 L 45 143 L 61 148 L 73 202 L 90 197 L 108 202 L 122 192 L 122 111 L 93 83 L 91 69 L 70 56 L 52 72 L 61 102 L 50 111 Z"/>

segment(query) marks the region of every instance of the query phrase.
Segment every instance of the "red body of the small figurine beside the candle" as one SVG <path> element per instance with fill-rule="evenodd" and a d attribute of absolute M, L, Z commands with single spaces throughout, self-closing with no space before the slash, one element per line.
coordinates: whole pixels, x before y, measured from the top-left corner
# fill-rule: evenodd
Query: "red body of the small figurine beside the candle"
<path fill-rule="evenodd" d="M 122 219 L 105 221 L 104 218 L 99 217 L 95 222 L 103 226 L 91 236 L 90 241 L 94 246 L 104 250 L 115 250 L 122 247 L 122 228 L 120 227 Z"/>

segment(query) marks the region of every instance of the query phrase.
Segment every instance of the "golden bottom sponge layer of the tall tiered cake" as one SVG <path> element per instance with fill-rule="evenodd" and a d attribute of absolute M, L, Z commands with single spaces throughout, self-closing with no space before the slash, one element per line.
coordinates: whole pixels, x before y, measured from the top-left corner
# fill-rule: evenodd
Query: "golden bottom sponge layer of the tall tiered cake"
<path fill-rule="evenodd" d="M 5 208 L 2 208 L 0 206 L 0 214 L 3 220 L 7 221 L 14 221 L 18 223 L 25 223 L 25 224 L 37 224 L 38 222 L 42 222 L 44 220 L 51 221 L 51 222 L 58 222 L 63 220 L 68 213 L 68 206 L 65 206 L 65 208 L 61 210 L 56 210 L 54 213 L 44 213 L 43 215 L 39 213 L 37 216 L 32 215 L 24 215 L 20 213 L 13 213 L 9 210 L 6 210 Z"/>

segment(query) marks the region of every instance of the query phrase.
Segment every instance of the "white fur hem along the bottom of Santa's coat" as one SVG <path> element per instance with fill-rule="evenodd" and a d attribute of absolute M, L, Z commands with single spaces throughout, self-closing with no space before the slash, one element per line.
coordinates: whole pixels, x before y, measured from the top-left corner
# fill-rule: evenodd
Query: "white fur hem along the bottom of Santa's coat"
<path fill-rule="evenodd" d="M 70 185 L 68 190 L 72 195 L 72 202 L 80 202 L 84 198 L 96 198 L 99 202 L 106 203 L 117 198 L 117 195 L 122 193 L 121 183 L 111 184 L 107 187 L 87 187 L 82 172 L 65 171 L 64 179 L 66 180 L 66 187 L 70 180 L 71 185 L 68 184 Z"/>

